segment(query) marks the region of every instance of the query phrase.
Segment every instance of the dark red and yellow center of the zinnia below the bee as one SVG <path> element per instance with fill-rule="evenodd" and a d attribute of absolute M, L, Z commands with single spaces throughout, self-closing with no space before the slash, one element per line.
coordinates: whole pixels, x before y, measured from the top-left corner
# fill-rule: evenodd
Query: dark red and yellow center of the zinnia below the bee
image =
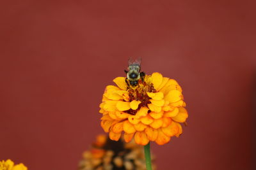
<path fill-rule="evenodd" d="M 149 76 L 145 76 L 145 80 L 138 80 L 138 85 L 136 87 L 127 87 L 127 91 L 129 92 L 129 100 L 131 101 L 140 101 L 138 108 L 136 110 L 127 110 L 125 113 L 129 113 L 131 115 L 136 115 L 137 111 L 140 110 L 141 107 L 147 107 L 147 104 L 150 104 L 147 92 L 156 92 L 154 89 L 153 83 L 149 80 Z"/>

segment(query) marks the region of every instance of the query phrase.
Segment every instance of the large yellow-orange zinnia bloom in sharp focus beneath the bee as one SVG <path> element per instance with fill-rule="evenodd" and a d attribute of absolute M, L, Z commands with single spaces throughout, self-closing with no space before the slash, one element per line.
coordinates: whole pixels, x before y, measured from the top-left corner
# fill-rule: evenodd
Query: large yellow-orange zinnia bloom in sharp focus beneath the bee
<path fill-rule="evenodd" d="M 99 111 L 100 125 L 110 139 L 118 141 L 124 132 L 126 142 L 134 138 L 139 145 L 164 145 L 172 136 L 179 137 L 188 112 L 177 81 L 160 73 L 146 75 L 135 87 L 128 86 L 125 77 L 113 81 L 117 87 L 106 87 Z"/>

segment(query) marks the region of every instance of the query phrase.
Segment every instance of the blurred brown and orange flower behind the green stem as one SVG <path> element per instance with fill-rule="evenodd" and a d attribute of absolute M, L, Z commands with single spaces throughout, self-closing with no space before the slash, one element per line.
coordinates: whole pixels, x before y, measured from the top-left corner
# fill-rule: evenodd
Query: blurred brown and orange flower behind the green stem
<path fill-rule="evenodd" d="M 92 148 L 83 153 L 79 170 L 138 169 L 146 170 L 143 146 L 134 141 L 112 141 L 106 135 L 97 136 Z M 153 165 L 153 169 L 156 169 Z"/>

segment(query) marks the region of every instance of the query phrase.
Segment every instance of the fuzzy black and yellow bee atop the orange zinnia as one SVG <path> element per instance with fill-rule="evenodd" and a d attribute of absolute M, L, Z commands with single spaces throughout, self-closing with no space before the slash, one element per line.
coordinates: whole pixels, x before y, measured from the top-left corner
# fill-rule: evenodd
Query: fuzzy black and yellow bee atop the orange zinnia
<path fill-rule="evenodd" d="M 128 71 L 124 70 L 127 77 L 125 78 L 125 82 L 128 86 L 135 87 L 138 85 L 138 81 L 141 80 L 144 81 L 145 73 L 140 72 L 140 66 L 141 66 L 141 58 L 137 60 L 128 60 Z M 129 82 L 128 82 L 129 81 Z"/>

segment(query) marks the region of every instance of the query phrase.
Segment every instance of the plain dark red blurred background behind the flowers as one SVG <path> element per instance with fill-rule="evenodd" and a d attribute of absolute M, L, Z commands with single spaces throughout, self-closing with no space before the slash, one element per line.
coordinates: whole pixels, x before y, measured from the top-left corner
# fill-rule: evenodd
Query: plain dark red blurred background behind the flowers
<path fill-rule="evenodd" d="M 158 169 L 250 169 L 255 3 L 2 1 L 0 159 L 76 169 L 102 133 L 104 87 L 128 57 L 175 78 L 180 138 L 153 146 Z"/>

